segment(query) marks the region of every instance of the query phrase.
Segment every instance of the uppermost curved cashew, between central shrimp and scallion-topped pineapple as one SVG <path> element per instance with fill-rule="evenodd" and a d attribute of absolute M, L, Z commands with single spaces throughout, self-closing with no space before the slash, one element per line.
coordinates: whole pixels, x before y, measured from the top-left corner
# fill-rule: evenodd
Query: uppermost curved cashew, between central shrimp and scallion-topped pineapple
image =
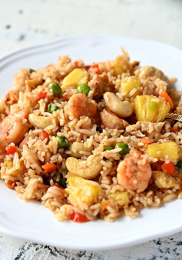
<path fill-rule="evenodd" d="M 133 105 L 128 101 L 121 101 L 114 93 L 104 93 L 104 100 L 108 108 L 117 116 L 125 118 L 133 113 Z"/>

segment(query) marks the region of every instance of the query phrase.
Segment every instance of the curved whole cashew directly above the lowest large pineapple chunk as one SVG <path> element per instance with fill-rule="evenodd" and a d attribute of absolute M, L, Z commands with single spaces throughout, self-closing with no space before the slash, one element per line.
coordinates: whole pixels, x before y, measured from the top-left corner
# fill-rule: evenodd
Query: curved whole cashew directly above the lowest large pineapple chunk
<path fill-rule="evenodd" d="M 90 155 L 87 160 L 80 160 L 74 157 L 66 159 L 66 167 L 69 172 L 84 179 L 93 179 L 99 175 L 103 165 L 99 157 Z"/>

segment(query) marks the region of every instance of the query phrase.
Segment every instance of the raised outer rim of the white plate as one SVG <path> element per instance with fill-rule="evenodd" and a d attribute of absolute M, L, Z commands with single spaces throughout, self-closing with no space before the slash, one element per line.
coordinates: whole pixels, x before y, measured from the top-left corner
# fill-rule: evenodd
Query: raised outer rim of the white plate
<path fill-rule="evenodd" d="M 161 46 L 161 47 L 165 47 L 165 48 L 168 48 L 168 50 L 170 51 L 173 51 L 175 54 L 180 54 L 182 55 L 182 49 L 178 48 L 178 47 L 175 47 L 173 45 L 170 45 L 170 44 L 167 44 L 167 43 L 162 43 L 162 42 L 159 42 L 159 41 L 155 41 L 155 40 L 149 40 L 149 39 L 140 39 L 140 38 L 134 38 L 134 37 L 126 37 L 126 36 L 119 36 L 119 35 L 102 35 L 102 36 L 99 36 L 99 35 L 95 35 L 95 36 L 63 36 L 63 37 L 59 37 L 55 40 L 51 40 L 51 41 L 47 41 L 45 43 L 39 43 L 39 44 L 34 44 L 34 45 L 30 45 L 30 46 L 26 46 L 26 47 L 23 47 L 23 48 L 19 48 L 19 49 L 16 49 L 16 50 L 13 50 L 11 52 L 8 52 L 7 54 L 5 55 L 2 55 L 0 56 L 0 70 L 1 70 L 1 67 L 4 67 L 5 64 L 8 64 L 9 63 L 9 60 L 13 59 L 13 57 L 15 55 L 19 55 L 19 54 L 22 54 L 24 52 L 29 52 L 30 50 L 35 50 L 37 48 L 49 48 L 50 46 L 54 46 L 56 44 L 60 44 L 60 43 L 64 43 L 66 41 L 73 41 L 73 40 L 80 40 L 80 39 L 84 39 L 84 40 L 87 40 L 87 41 L 90 41 L 90 40 L 98 40 L 98 39 L 103 39 L 103 38 L 118 38 L 118 39 L 126 39 L 126 40 L 136 40 L 136 41 L 142 41 L 143 43 L 153 43 L 153 44 L 156 44 L 157 46 Z M 66 223 L 66 222 L 65 222 Z M 15 238 L 19 238 L 19 239 L 23 239 L 23 240 L 28 240 L 28 241 L 35 241 L 37 243 L 44 243 L 44 244 L 47 244 L 47 243 L 50 243 L 51 245 L 54 245 L 54 246 L 57 246 L 57 247 L 64 247 L 64 248 L 68 248 L 68 249 L 76 249 L 76 250 L 98 250 L 98 251 L 101 251 L 101 250 L 108 250 L 108 249 L 114 249 L 114 248 L 124 248 L 124 247 L 130 247 L 130 246 L 134 246 L 134 245 L 138 245 L 140 243 L 144 243 L 144 242 L 147 242 L 149 240 L 152 240 L 152 239 L 155 239 L 155 238 L 158 238 L 159 236 L 160 237 L 165 237 L 165 236 L 168 236 L 168 235 L 171 235 L 171 234 L 175 234 L 177 232 L 180 232 L 182 231 L 182 225 L 179 227 L 179 228 L 176 228 L 176 229 L 173 229 L 171 231 L 165 231 L 163 233 L 161 232 L 156 232 L 155 235 L 145 235 L 145 237 L 143 238 L 138 238 L 138 239 L 133 239 L 131 241 L 128 241 L 126 243 L 122 243 L 120 244 L 120 242 L 118 241 L 117 243 L 115 243 L 114 245 L 94 245 L 94 246 L 88 246 L 88 244 L 86 245 L 82 245 L 79 247 L 78 243 L 76 245 L 68 245 L 67 241 L 65 243 L 64 240 L 61 241 L 61 245 L 60 245 L 60 241 L 47 241 L 47 237 L 41 237 L 41 236 L 38 236 L 38 237 L 34 237 L 32 234 L 30 233 L 27 233 L 27 235 L 25 235 L 25 233 L 20 233 L 18 232 L 16 229 L 10 229 L 10 228 L 7 228 L 6 226 L 3 226 L 2 222 L 1 222 L 1 219 L 0 219 L 0 231 L 5 233 L 5 234 L 8 234 L 10 236 L 13 236 Z"/>

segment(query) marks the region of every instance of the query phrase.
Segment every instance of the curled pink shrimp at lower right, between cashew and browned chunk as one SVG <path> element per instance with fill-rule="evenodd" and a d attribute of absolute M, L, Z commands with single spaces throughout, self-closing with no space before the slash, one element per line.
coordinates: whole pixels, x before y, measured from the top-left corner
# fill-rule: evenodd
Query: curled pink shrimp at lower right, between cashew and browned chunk
<path fill-rule="evenodd" d="M 118 183 L 126 190 L 144 191 L 152 175 L 150 163 L 143 162 L 141 153 L 136 149 L 131 149 L 130 154 L 126 156 L 117 167 Z"/>

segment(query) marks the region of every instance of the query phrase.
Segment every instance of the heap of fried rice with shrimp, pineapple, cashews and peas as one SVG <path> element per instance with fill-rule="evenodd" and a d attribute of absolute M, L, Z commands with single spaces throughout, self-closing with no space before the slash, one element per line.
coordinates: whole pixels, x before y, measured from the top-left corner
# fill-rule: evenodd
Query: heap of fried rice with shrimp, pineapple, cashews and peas
<path fill-rule="evenodd" d="M 182 114 L 181 92 L 174 78 L 122 51 L 89 66 L 62 56 L 20 69 L 1 101 L 1 179 L 58 221 L 112 222 L 182 198 L 182 123 L 166 119 Z"/>

